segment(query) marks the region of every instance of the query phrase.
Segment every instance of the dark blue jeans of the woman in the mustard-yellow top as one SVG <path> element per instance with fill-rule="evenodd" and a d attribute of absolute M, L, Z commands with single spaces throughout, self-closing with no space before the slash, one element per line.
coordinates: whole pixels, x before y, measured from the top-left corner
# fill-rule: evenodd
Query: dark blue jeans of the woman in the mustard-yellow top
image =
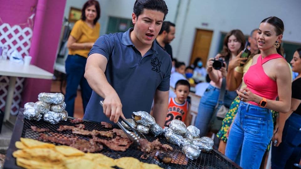
<path fill-rule="evenodd" d="M 84 77 L 86 63 L 87 58 L 80 55 L 68 55 L 65 62 L 67 75 L 65 102 L 66 111 L 68 112 L 68 116 L 71 117 L 73 117 L 74 113 L 74 101 L 77 96 L 78 85 L 81 86 L 84 112 L 92 94 L 92 89 Z"/>

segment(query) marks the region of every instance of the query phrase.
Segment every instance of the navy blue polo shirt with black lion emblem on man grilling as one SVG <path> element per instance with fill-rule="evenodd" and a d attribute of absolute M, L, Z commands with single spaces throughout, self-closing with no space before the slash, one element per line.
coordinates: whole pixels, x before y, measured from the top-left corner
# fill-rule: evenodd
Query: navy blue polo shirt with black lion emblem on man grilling
<path fill-rule="evenodd" d="M 142 57 L 130 39 L 132 30 L 100 36 L 88 54 L 102 54 L 107 58 L 105 75 L 121 100 L 125 118 L 131 118 L 133 111 L 150 112 L 156 90 L 169 90 L 172 69 L 169 54 L 155 41 Z M 104 115 L 100 100 L 103 98 L 93 91 L 84 119 L 111 122 Z"/>

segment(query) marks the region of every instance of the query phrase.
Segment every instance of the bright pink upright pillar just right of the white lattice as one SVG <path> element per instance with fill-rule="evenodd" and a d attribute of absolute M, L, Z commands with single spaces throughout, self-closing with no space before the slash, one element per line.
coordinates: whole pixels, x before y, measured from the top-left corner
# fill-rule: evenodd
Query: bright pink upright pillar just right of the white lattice
<path fill-rule="evenodd" d="M 54 63 L 66 0 L 39 0 L 33 30 L 30 55 L 34 64 L 51 73 Z M 51 80 L 26 79 L 22 95 L 23 104 L 37 101 L 40 92 L 50 92 Z M 21 103 L 22 105 L 22 103 Z"/>

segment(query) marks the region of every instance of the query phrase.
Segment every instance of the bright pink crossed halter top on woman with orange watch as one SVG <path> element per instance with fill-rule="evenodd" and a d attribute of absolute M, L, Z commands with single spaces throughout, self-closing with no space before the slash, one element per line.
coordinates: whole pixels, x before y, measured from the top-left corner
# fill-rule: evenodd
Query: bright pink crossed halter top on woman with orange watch
<path fill-rule="evenodd" d="M 277 83 L 267 76 L 263 70 L 262 64 L 277 58 L 283 57 L 280 54 L 270 54 L 262 59 L 260 55 L 257 59 L 257 63 L 248 69 L 244 76 L 244 81 L 247 85 L 247 88 L 249 88 L 252 93 L 261 97 L 265 97 L 269 100 L 276 100 L 278 96 Z M 258 103 L 253 101 L 248 103 L 258 106 Z"/>

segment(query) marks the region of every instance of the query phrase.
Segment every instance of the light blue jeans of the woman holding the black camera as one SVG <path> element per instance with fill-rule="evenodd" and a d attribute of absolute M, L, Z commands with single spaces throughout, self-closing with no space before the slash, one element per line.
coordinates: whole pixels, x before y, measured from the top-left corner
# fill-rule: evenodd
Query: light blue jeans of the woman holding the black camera
<path fill-rule="evenodd" d="M 219 100 L 219 88 L 209 85 L 198 106 L 198 115 L 195 126 L 200 129 L 200 137 L 206 136 L 208 125 L 213 115 L 214 108 Z M 225 91 L 224 105 L 230 107 L 232 101 L 236 97 L 236 91 Z"/>

